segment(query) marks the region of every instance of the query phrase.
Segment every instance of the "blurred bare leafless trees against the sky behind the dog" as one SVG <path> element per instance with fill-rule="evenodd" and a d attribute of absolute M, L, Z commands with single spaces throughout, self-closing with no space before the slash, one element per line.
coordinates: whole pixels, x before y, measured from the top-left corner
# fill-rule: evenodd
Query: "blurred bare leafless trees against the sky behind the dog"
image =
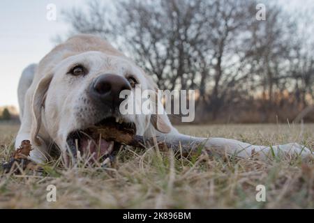
<path fill-rule="evenodd" d="M 258 21 L 257 3 L 118 0 L 108 5 L 93 0 L 87 10 L 73 8 L 63 15 L 71 34 L 94 33 L 109 40 L 160 89 L 196 89 L 197 105 L 202 102 L 213 118 L 225 107 L 261 95 L 267 110 L 287 92 L 305 107 L 314 100 L 313 23 L 306 24 L 306 39 L 301 38 L 302 22 L 291 12 L 265 1 L 267 20 Z"/>

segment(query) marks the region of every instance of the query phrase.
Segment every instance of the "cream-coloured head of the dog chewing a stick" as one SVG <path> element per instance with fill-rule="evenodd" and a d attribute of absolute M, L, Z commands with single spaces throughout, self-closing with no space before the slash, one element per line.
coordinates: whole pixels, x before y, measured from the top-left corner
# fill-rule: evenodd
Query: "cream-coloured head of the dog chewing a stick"
<path fill-rule="evenodd" d="M 151 128 L 169 132 L 167 116 L 121 114 L 119 106 L 124 100 L 120 98 L 121 91 L 133 92 L 137 84 L 142 90 L 156 91 L 151 78 L 124 56 L 84 52 L 63 59 L 37 85 L 32 105 L 32 141 L 40 143 L 37 137 L 42 126 L 62 149 L 78 146 L 82 151 L 89 148 L 95 152 L 98 146 L 107 153 L 113 143 L 94 132 L 90 134 L 91 128 L 114 123 L 140 135 Z"/>

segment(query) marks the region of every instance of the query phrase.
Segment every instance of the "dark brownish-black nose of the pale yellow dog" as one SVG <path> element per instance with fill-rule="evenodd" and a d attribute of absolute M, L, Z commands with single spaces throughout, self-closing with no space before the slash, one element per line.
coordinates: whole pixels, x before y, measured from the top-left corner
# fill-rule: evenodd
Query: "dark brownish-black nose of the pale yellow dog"
<path fill-rule="evenodd" d="M 124 100 L 119 98 L 123 90 L 131 90 L 130 83 L 125 77 L 106 74 L 100 75 L 91 83 L 89 95 L 91 99 L 97 100 L 97 102 L 118 107 Z"/>

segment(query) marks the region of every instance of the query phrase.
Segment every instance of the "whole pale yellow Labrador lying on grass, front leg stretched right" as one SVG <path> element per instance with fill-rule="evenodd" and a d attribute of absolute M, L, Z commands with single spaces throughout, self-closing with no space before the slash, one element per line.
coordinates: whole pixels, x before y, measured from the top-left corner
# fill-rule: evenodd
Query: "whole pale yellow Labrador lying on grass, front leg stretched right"
<path fill-rule="evenodd" d="M 132 59 L 97 36 L 80 34 L 57 45 L 38 64 L 22 72 L 18 86 L 21 126 L 15 148 L 25 139 L 31 141 L 30 159 L 47 161 L 50 145 L 61 153 L 73 147 L 75 132 L 91 126 L 116 122 L 132 125 L 144 137 L 163 136 L 170 141 L 204 141 L 204 148 L 218 148 L 224 153 L 266 160 L 281 152 L 313 157 L 313 152 L 296 143 L 280 146 L 254 146 L 234 139 L 200 138 L 180 134 L 167 114 L 119 114 L 119 93 L 140 84 L 142 90 L 156 91 L 157 85 Z M 163 104 L 158 101 L 158 106 Z M 80 137 L 78 146 L 95 153 L 88 137 Z M 101 153 L 110 153 L 114 142 L 93 138 Z M 76 141 L 77 142 L 77 141 Z M 77 146 L 77 144 L 76 144 Z"/>

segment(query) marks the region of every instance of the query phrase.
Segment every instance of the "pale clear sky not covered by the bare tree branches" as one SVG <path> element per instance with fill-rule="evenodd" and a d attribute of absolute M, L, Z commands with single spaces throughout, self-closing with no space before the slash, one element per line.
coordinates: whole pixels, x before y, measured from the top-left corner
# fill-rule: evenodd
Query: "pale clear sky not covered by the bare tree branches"
<path fill-rule="evenodd" d="M 112 0 L 113 1 L 113 0 Z M 288 10 L 313 0 L 277 0 Z M 17 84 L 22 70 L 38 63 L 54 43 L 52 38 L 67 33 L 61 11 L 84 7 L 87 0 L 1 0 L 0 3 L 0 107 L 17 104 Z M 55 21 L 47 20 L 47 5 L 56 6 Z"/>

